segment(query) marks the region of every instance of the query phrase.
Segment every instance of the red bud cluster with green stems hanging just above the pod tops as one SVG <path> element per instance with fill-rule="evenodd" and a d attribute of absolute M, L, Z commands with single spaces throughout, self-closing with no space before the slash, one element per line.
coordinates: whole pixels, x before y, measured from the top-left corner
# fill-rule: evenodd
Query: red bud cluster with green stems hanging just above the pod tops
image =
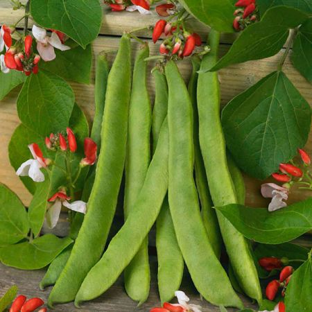
<path fill-rule="evenodd" d="M 189 33 L 182 25 L 159 19 L 154 27 L 153 42 L 156 43 L 163 33 L 166 38 L 160 44 L 159 52 L 164 55 L 177 55 L 178 58 L 184 58 L 191 55 L 196 46 L 202 44 L 197 33 Z"/>

